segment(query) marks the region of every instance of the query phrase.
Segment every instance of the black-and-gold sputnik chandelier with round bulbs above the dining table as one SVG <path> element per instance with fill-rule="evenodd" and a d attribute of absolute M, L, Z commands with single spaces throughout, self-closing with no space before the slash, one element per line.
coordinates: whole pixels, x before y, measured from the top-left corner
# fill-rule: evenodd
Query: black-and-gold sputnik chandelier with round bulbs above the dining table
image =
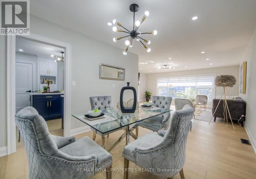
<path fill-rule="evenodd" d="M 151 44 L 151 41 L 150 40 L 147 40 L 145 38 L 142 38 L 141 35 L 142 34 L 154 34 L 154 35 L 157 35 L 157 31 L 149 31 L 149 32 L 139 32 L 138 29 L 141 25 L 141 23 L 143 21 L 145 21 L 146 19 L 146 16 L 149 16 L 150 15 L 150 12 L 148 11 L 145 11 L 144 13 L 144 16 L 141 18 L 141 21 L 139 20 L 136 20 L 135 21 L 135 12 L 138 12 L 139 11 L 139 5 L 137 4 L 132 4 L 130 5 L 130 10 L 133 12 L 133 30 L 132 31 L 129 31 L 128 29 L 126 29 L 125 27 L 123 27 L 123 25 L 120 23 L 120 22 L 117 22 L 116 19 L 114 19 L 112 22 L 113 24 L 116 24 L 118 25 L 119 27 L 117 28 L 116 26 L 114 26 L 112 28 L 112 30 L 114 32 L 120 32 L 120 33 L 126 33 L 126 34 L 129 34 L 129 35 L 126 35 L 126 36 L 123 36 L 123 37 L 115 37 L 113 38 L 113 41 L 116 42 L 117 40 L 120 40 L 120 39 L 123 39 L 123 38 L 126 38 L 127 37 L 127 40 L 125 40 L 125 45 L 127 45 L 125 51 L 123 51 L 123 55 L 126 55 L 127 54 L 127 51 L 128 51 L 128 48 L 129 47 L 133 47 L 133 41 L 136 39 L 137 41 L 139 41 L 143 47 L 146 49 L 146 52 L 150 53 L 151 52 L 151 48 L 148 48 L 147 45 Z M 112 23 L 108 23 L 109 25 L 112 25 Z M 144 42 L 144 43 L 143 43 Z M 147 45 L 146 45 L 146 44 Z"/>

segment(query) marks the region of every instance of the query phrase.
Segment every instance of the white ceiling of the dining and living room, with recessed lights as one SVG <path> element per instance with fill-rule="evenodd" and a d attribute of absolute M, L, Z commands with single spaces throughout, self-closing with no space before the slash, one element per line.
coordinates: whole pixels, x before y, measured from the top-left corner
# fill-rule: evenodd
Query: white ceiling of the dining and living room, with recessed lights
<path fill-rule="evenodd" d="M 161 72 L 157 67 L 164 64 L 175 66 L 168 71 L 179 71 L 238 65 L 246 60 L 243 54 L 256 26 L 256 0 L 33 0 L 30 12 L 124 49 L 124 40 L 112 41 L 120 33 L 114 33 L 106 23 L 117 19 L 132 29 L 132 3 L 140 6 L 136 20 L 145 10 L 150 11 L 140 31 L 158 31 L 157 36 L 143 36 L 152 42 L 151 53 L 137 41 L 130 49 L 139 55 L 139 62 L 155 62 L 139 65 L 140 72 Z M 193 21 L 193 16 L 199 18 Z"/>

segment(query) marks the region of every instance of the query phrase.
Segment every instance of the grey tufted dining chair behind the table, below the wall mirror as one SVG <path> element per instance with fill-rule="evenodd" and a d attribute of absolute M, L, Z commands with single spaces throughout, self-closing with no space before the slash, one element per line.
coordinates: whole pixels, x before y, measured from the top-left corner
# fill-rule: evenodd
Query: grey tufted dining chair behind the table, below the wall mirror
<path fill-rule="evenodd" d="M 92 96 L 90 97 L 90 103 L 91 103 L 91 108 L 92 110 L 95 110 L 98 108 L 99 110 L 104 110 L 104 109 L 110 109 L 111 107 L 111 96 Z M 95 129 L 91 127 L 91 130 L 93 131 L 93 140 L 95 141 L 96 134 L 101 136 L 102 139 L 102 147 L 105 148 L 105 136 L 109 137 L 110 133 L 99 133 Z M 113 133 L 113 132 L 111 132 Z"/>

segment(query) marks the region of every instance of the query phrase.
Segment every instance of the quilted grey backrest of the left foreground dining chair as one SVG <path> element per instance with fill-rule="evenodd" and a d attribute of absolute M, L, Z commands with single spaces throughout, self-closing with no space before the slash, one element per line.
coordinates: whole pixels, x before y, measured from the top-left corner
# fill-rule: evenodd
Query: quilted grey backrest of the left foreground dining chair
<path fill-rule="evenodd" d="M 53 155 L 58 150 L 44 118 L 33 107 L 17 112 L 15 122 L 22 133 L 29 162 L 29 178 L 37 178 L 41 154 Z M 40 149 L 40 150 L 39 150 Z"/>

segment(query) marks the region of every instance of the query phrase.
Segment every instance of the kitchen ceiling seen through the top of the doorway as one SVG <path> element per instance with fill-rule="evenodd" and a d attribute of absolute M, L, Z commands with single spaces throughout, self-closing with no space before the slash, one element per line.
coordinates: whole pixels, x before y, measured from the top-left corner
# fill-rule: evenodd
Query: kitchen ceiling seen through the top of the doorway
<path fill-rule="evenodd" d="M 23 52 L 20 52 L 19 49 L 22 49 Z M 56 60 L 56 58 L 52 58 L 51 55 L 61 57 L 60 52 L 65 52 L 65 49 L 17 37 L 16 52 L 36 55 L 39 57 L 47 57 Z"/>

